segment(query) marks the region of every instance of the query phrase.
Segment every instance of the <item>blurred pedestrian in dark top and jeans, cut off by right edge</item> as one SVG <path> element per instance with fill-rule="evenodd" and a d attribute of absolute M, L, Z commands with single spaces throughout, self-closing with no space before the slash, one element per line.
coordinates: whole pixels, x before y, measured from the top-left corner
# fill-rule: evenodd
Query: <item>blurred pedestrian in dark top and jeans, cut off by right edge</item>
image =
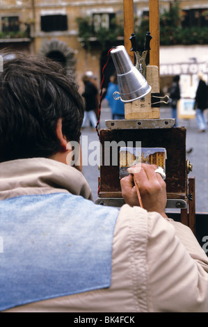
<path fill-rule="evenodd" d="M 208 87 L 202 72 L 198 73 L 198 79 L 199 83 L 195 93 L 194 109 L 196 109 L 195 117 L 198 124 L 198 131 L 203 132 L 207 129 L 205 109 L 208 108 Z"/>

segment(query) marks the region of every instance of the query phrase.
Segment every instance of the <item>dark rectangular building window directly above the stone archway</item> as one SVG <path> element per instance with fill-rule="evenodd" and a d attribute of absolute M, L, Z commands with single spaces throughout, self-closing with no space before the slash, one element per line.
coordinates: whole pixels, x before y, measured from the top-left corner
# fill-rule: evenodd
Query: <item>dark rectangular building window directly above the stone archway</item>
<path fill-rule="evenodd" d="M 44 15 L 41 16 L 41 31 L 67 31 L 67 15 Z"/>

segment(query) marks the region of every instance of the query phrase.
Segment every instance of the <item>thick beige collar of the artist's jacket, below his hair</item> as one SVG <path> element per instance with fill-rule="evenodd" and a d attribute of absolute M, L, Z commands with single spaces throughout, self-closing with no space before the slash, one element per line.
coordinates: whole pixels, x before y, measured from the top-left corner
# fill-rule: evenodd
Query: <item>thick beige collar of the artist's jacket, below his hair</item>
<path fill-rule="evenodd" d="M 53 159 L 30 158 L 0 163 L 0 200 L 15 196 L 70 192 L 93 200 L 79 170 Z"/>

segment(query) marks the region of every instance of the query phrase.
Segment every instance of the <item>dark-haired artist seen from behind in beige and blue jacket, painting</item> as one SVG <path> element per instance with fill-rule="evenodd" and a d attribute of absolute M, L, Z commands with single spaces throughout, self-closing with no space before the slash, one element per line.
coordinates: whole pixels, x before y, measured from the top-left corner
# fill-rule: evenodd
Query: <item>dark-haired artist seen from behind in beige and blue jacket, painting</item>
<path fill-rule="evenodd" d="M 156 166 L 122 179 L 120 210 L 95 205 L 81 166 L 83 99 L 58 63 L 20 56 L 0 73 L 0 310 L 207 312 L 208 262 L 165 214 Z"/>

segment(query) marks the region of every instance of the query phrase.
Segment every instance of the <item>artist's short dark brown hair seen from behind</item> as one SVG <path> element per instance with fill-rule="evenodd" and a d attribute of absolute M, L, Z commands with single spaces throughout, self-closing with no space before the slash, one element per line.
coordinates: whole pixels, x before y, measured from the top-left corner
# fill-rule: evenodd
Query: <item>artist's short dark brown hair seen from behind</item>
<path fill-rule="evenodd" d="M 58 118 L 67 141 L 79 141 L 83 99 L 60 64 L 15 54 L 3 61 L 0 92 L 0 162 L 58 152 Z"/>

